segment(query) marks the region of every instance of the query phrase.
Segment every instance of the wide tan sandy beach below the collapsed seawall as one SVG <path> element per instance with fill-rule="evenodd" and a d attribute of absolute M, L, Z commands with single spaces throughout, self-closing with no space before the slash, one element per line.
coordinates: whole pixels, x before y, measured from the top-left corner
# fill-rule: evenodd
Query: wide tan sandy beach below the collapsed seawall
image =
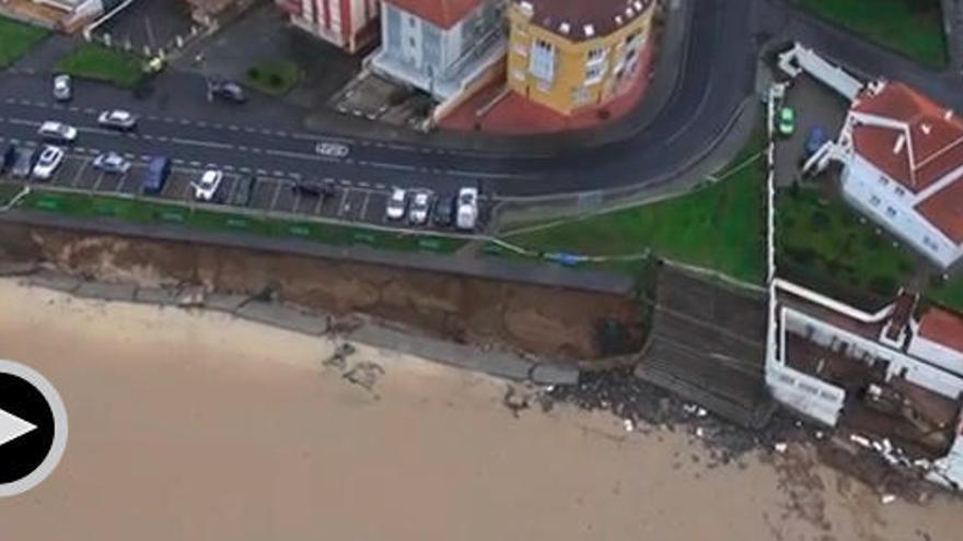
<path fill-rule="evenodd" d="M 506 384 L 216 313 L 0 280 L 0 358 L 59 389 L 70 440 L 0 537 L 97 540 L 950 540 L 963 502 L 880 503 L 804 446 L 708 466 L 680 430 L 570 407 L 515 417 Z"/>

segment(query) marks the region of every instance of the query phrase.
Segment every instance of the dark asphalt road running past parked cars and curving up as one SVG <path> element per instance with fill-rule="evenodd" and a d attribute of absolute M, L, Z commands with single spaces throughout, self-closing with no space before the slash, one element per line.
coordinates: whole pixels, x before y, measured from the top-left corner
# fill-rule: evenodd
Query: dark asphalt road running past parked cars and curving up
<path fill-rule="evenodd" d="M 196 93 L 197 102 L 137 99 L 124 92 L 79 82 L 76 99 L 53 103 L 49 80 L 7 74 L 0 80 L 0 134 L 35 139 L 44 120 L 79 128 L 85 151 L 113 150 L 140 158 L 166 155 L 194 167 L 220 167 L 278 177 L 337 178 L 370 186 L 427 187 L 449 191 L 480 184 L 489 195 L 524 197 L 599 190 L 665 181 L 710 149 L 752 93 L 755 44 L 753 0 L 700 0 L 689 21 L 689 45 L 675 92 L 643 131 L 601 148 L 535 156 L 487 154 L 390 144 L 305 133 L 303 111 L 255 96 L 244 106 L 206 104 L 204 83 L 171 74 L 169 86 Z M 96 127 L 105 108 L 141 115 L 135 133 Z M 189 110 L 188 110 L 189 108 Z M 347 155 L 325 156 L 318 143 L 339 143 Z"/>

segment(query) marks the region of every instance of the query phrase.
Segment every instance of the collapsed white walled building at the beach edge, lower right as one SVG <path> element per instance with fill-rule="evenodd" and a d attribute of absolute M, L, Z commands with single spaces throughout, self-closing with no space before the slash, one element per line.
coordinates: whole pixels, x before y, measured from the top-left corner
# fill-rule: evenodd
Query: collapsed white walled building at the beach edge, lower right
<path fill-rule="evenodd" d="M 907 294 L 869 314 L 781 280 L 774 291 L 773 396 L 963 490 L 963 316 Z"/>

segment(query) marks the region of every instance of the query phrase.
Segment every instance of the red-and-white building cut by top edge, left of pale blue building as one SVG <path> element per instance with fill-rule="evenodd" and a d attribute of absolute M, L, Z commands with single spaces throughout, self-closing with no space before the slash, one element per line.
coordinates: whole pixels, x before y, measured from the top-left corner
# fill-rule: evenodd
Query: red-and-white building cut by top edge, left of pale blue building
<path fill-rule="evenodd" d="M 291 23 L 348 52 L 378 37 L 380 0 L 276 0 Z"/>

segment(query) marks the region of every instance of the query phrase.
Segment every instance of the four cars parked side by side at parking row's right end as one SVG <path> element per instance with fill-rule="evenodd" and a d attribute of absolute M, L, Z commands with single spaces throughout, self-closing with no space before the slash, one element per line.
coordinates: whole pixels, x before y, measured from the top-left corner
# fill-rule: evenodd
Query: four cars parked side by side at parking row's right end
<path fill-rule="evenodd" d="M 459 230 L 472 231 L 478 225 L 478 188 L 464 187 L 456 197 L 436 197 L 427 189 L 409 192 L 395 188 L 388 197 L 385 215 L 393 221 L 407 216 L 411 225 L 426 225 L 430 221 L 439 227 L 454 225 Z"/>

